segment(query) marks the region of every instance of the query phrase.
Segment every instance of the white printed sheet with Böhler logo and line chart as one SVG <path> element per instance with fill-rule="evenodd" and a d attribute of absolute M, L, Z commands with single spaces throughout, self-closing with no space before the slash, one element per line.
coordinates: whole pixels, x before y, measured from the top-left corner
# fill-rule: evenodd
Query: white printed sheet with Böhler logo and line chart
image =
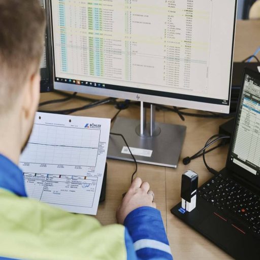
<path fill-rule="evenodd" d="M 110 119 L 37 113 L 20 157 L 30 198 L 74 213 L 98 211 Z"/>

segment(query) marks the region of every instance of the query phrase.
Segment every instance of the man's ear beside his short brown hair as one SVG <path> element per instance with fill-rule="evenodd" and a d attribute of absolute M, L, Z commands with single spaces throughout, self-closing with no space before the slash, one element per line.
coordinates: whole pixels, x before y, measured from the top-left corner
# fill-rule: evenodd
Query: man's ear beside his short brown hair
<path fill-rule="evenodd" d="M 40 72 L 32 74 L 24 88 L 23 110 L 26 119 L 34 118 L 40 100 Z"/>

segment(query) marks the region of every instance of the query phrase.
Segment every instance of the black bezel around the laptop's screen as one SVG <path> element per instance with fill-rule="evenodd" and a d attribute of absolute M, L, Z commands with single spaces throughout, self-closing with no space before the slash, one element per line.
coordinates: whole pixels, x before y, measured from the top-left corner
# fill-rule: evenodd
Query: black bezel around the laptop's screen
<path fill-rule="evenodd" d="M 251 77 L 254 77 L 256 79 L 260 80 L 260 73 L 257 73 L 251 69 L 245 68 L 244 70 L 244 76 L 243 76 L 243 81 L 241 83 L 241 88 L 240 88 L 240 94 L 239 94 L 239 100 L 237 103 L 237 112 L 236 112 L 236 117 L 235 117 L 235 123 L 233 126 L 233 131 L 232 131 L 232 137 L 231 137 L 231 142 L 230 142 L 230 147 L 229 147 L 229 152 L 228 152 L 228 157 L 226 159 L 226 168 L 233 172 L 235 175 L 238 175 L 239 177 L 242 177 L 243 179 L 246 179 L 247 181 L 251 182 L 252 184 L 260 187 L 260 175 L 254 175 L 252 173 L 249 174 L 247 170 L 242 168 L 241 166 L 233 163 L 231 160 L 231 154 L 232 154 L 232 148 L 233 148 L 233 143 L 235 140 L 235 131 L 236 131 L 236 126 L 237 126 L 237 120 L 239 116 L 239 106 L 241 104 L 241 99 L 243 98 L 243 92 L 244 92 L 244 83 L 245 83 L 245 77 L 246 75 L 249 75 Z"/>

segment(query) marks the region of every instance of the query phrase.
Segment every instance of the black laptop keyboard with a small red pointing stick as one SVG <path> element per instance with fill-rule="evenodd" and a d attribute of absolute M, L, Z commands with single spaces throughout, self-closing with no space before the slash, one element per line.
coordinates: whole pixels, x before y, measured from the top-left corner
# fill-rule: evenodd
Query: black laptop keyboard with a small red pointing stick
<path fill-rule="evenodd" d="M 235 215 L 254 235 L 260 236 L 260 196 L 222 174 L 201 186 L 198 194 L 219 210 Z"/>

